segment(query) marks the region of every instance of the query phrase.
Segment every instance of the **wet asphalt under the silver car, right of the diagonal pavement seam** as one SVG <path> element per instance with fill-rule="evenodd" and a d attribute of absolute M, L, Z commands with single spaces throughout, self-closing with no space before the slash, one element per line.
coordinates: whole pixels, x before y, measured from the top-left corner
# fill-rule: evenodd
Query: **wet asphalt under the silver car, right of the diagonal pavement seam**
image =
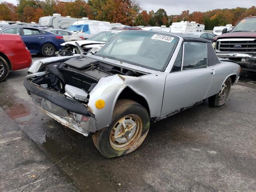
<path fill-rule="evenodd" d="M 33 60 L 38 59 L 33 56 Z M 106 159 L 92 138 L 65 128 L 33 104 L 28 69 L 0 83 L 0 107 L 84 192 L 255 192 L 256 77 L 243 75 L 228 102 L 208 102 L 150 126 L 135 152 Z"/>

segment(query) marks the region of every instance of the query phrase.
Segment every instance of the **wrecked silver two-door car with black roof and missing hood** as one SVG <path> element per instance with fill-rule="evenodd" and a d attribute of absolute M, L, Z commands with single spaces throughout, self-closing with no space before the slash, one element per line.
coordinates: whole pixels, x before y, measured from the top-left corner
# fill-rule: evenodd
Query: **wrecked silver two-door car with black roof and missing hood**
<path fill-rule="evenodd" d="M 64 126 L 92 135 L 107 158 L 126 155 L 150 124 L 206 98 L 225 104 L 240 66 L 220 61 L 210 41 L 124 31 L 94 55 L 36 62 L 24 80 L 32 101 Z"/>

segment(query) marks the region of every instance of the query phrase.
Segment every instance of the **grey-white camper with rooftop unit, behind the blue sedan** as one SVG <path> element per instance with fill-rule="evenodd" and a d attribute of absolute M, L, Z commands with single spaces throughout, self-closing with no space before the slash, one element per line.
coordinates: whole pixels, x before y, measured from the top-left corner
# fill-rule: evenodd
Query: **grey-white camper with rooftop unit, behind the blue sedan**
<path fill-rule="evenodd" d="M 70 16 L 62 17 L 60 14 L 53 14 L 52 16 L 45 16 L 39 18 L 39 25 L 44 25 L 46 27 L 55 29 L 67 29 L 74 22 L 84 20 L 83 18 L 72 18 Z"/>

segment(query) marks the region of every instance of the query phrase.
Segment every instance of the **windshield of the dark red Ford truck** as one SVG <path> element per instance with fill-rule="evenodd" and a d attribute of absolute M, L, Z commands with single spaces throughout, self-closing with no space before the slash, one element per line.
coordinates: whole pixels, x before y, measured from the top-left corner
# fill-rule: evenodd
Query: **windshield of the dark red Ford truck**
<path fill-rule="evenodd" d="M 246 18 L 240 21 L 231 32 L 256 31 L 256 18 Z"/>

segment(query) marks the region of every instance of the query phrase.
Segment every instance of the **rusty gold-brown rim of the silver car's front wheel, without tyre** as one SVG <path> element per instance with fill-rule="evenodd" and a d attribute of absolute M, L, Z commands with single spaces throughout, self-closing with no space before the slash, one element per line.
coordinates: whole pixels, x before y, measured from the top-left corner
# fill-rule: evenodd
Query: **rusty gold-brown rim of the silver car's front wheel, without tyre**
<path fill-rule="evenodd" d="M 120 118 L 110 132 L 110 145 L 115 150 L 126 150 L 138 141 L 142 133 L 142 120 L 137 115 Z"/>

